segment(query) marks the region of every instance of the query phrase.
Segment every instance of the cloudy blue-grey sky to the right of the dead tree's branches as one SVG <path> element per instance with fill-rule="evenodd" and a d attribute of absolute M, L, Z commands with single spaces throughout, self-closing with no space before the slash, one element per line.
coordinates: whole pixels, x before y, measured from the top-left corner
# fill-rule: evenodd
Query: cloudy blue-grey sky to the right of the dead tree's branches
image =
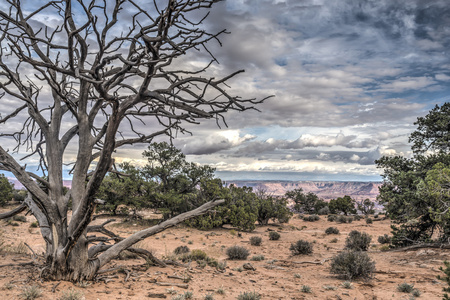
<path fill-rule="evenodd" d="M 381 180 L 374 160 L 410 155 L 414 121 L 450 100 L 447 0 L 225 0 L 204 26 L 230 32 L 210 50 L 214 72 L 245 69 L 236 94 L 274 95 L 174 141 L 226 180 Z"/>

